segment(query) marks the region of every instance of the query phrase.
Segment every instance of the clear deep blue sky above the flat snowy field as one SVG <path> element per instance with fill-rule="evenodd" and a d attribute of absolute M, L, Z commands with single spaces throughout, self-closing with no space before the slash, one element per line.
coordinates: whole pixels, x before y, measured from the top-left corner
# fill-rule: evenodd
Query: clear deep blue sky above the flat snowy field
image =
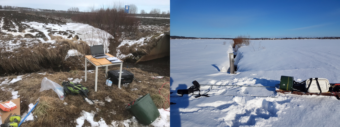
<path fill-rule="evenodd" d="M 171 36 L 340 37 L 340 1 L 171 0 Z"/>

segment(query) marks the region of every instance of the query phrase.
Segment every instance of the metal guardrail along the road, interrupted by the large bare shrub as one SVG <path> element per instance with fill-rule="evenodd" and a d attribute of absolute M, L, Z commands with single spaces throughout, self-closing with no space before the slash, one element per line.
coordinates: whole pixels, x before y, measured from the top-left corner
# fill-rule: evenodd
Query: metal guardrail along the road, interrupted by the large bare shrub
<path fill-rule="evenodd" d="M 90 12 L 57 12 L 57 11 L 40 11 L 48 13 L 65 13 L 65 14 L 90 14 Z M 150 17 L 150 18 L 170 18 L 170 14 L 128 14 L 134 17 Z"/>

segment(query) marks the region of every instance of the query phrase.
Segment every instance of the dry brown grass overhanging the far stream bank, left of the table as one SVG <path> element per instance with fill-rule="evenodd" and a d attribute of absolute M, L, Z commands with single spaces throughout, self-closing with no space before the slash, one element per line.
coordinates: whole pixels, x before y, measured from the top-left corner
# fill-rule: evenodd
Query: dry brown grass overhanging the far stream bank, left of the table
<path fill-rule="evenodd" d="M 62 66 L 64 65 L 67 51 L 70 49 L 76 49 L 81 54 L 89 55 L 90 47 L 84 41 L 75 41 L 68 39 L 61 39 L 60 36 L 54 36 L 56 42 L 51 43 L 34 43 L 33 46 L 27 46 L 27 42 L 21 42 L 19 47 L 13 51 L 1 51 L 0 66 L 6 72 L 16 71 L 38 71 L 43 66 Z M 56 46 L 49 49 L 49 47 Z M 0 47 L 1 48 L 4 47 Z M 83 65 L 82 65 L 83 66 Z"/>

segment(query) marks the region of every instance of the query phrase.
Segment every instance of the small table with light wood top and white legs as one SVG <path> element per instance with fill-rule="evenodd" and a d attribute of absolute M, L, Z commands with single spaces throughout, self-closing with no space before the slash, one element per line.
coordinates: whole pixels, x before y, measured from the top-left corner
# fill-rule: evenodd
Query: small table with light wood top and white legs
<path fill-rule="evenodd" d="M 110 57 L 114 57 L 114 56 L 112 56 L 110 54 L 106 54 L 106 55 L 110 56 Z M 85 56 L 85 82 L 86 82 L 86 79 L 87 79 L 87 61 L 89 61 L 90 63 L 92 63 L 93 65 L 96 66 L 95 91 L 97 91 L 98 67 L 106 66 L 105 74 L 107 75 L 107 66 L 120 64 L 120 68 L 119 68 L 119 80 L 118 80 L 118 88 L 120 88 L 120 80 L 121 80 L 121 77 L 122 77 L 121 73 L 122 73 L 122 66 L 123 66 L 123 61 L 122 60 L 120 60 L 121 62 L 118 62 L 118 63 L 112 63 L 112 62 L 108 61 L 105 58 L 96 59 L 96 58 L 92 58 L 91 55 Z M 105 75 L 105 77 L 106 77 L 106 75 Z"/>

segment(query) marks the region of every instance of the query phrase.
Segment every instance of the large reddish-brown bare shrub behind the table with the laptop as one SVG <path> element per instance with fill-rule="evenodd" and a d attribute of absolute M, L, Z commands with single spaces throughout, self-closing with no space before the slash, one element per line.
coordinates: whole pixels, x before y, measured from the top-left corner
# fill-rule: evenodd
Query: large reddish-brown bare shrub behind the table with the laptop
<path fill-rule="evenodd" d="M 117 47 L 121 43 L 123 36 L 135 36 L 139 26 L 137 18 L 124 13 L 124 3 L 122 2 L 114 2 L 112 5 L 107 5 L 105 8 L 103 6 L 99 9 L 93 6 L 89 7 L 88 13 L 79 15 L 73 20 L 92 25 L 112 35 L 113 37 L 101 34 L 100 36 L 103 36 L 100 37 L 102 41 L 96 43 L 108 42 L 108 53 L 114 56 L 117 54 Z"/>

